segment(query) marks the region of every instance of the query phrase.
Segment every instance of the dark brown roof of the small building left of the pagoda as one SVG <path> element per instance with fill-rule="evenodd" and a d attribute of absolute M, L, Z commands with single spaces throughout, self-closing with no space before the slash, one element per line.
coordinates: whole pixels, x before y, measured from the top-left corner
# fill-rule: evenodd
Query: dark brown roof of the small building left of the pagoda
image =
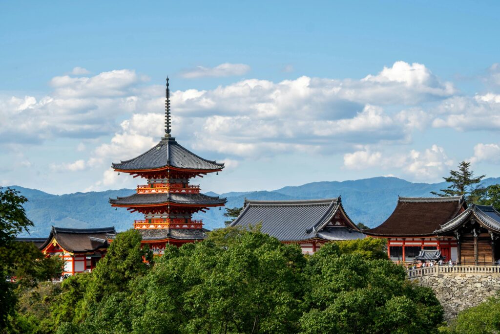
<path fill-rule="evenodd" d="M 46 248 L 52 242 L 52 239 L 55 239 L 61 248 L 69 252 L 91 252 L 108 246 L 107 235 L 109 233 L 116 233 L 114 226 L 101 228 L 61 228 L 52 226 L 48 238 L 39 248 Z"/>

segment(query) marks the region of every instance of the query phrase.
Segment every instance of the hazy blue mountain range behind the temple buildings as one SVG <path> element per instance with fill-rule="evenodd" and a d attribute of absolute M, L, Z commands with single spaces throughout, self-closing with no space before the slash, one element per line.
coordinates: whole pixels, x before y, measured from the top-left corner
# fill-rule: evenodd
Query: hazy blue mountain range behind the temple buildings
<path fill-rule="evenodd" d="M 482 181 L 484 186 L 500 183 L 500 178 Z M 430 191 L 445 188 L 446 183 L 412 183 L 395 177 L 373 177 L 353 181 L 312 182 L 301 186 L 284 187 L 273 191 L 229 192 L 215 194 L 227 198 L 226 207 L 239 207 L 245 198 L 258 200 L 316 199 L 342 196 L 347 214 L 355 222 L 374 227 L 384 221 L 396 205 L 397 196 L 430 196 Z M 109 197 L 127 196 L 133 189 L 107 190 L 101 192 L 51 195 L 36 189 L 11 186 L 29 200 L 25 205 L 28 217 L 34 222 L 32 236 L 44 237 L 50 226 L 61 227 L 105 227 L 114 226 L 118 231 L 132 226 L 134 219 L 142 219 L 139 213 L 112 208 Z M 203 219 L 205 227 L 213 229 L 224 226 L 225 210 L 214 208 L 206 213 L 194 215 Z"/>

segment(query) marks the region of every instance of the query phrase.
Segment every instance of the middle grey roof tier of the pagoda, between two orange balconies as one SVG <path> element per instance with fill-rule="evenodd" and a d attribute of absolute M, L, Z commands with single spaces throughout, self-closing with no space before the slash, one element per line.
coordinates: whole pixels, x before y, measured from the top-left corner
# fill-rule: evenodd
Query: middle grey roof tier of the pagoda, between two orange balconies
<path fill-rule="evenodd" d="M 225 198 L 218 196 L 207 196 L 204 194 L 171 194 L 171 193 L 152 193 L 152 194 L 133 194 L 126 197 L 110 198 L 109 203 L 117 205 L 143 205 L 143 204 L 199 204 L 216 205 L 224 204 Z"/>

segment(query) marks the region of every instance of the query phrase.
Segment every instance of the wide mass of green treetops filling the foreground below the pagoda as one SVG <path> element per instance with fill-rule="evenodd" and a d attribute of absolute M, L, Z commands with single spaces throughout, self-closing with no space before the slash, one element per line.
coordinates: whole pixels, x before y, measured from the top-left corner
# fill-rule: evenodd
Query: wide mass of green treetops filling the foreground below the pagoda
<path fill-rule="evenodd" d="M 258 226 L 225 228 L 203 242 L 167 245 L 147 264 L 140 235 L 127 231 L 92 273 L 61 284 L 50 323 L 59 334 L 435 331 L 437 299 L 409 283 L 384 247 L 366 238 L 304 257 Z"/>

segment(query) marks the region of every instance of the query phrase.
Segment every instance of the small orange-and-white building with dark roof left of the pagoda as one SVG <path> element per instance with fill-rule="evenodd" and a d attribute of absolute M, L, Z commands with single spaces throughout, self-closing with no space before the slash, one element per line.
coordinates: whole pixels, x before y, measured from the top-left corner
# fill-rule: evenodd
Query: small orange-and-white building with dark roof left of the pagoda
<path fill-rule="evenodd" d="M 65 260 L 63 274 L 91 271 L 104 257 L 108 240 L 115 235 L 114 226 L 102 228 L 54 227 L 39 249 L 46 256 L 59 256 Z"/>

